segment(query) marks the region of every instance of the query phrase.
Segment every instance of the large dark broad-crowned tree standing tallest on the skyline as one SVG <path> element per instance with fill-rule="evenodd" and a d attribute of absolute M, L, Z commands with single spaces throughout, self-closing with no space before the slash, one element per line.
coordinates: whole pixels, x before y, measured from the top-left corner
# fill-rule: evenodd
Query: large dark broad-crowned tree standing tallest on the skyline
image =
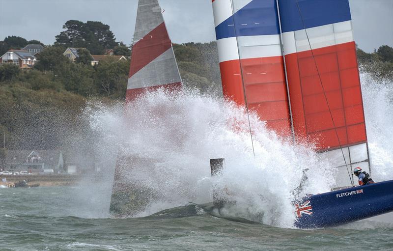
<path fill-rule="evenodd" d="M 116 45 L 114 35 L 108 25 L 96 21 L 83 23 L 78 20 L 67 21 L 60 34 L 56 36 L 57 45 L 86 48 L 92 55 L 102 55 L 105 49 Z"/>

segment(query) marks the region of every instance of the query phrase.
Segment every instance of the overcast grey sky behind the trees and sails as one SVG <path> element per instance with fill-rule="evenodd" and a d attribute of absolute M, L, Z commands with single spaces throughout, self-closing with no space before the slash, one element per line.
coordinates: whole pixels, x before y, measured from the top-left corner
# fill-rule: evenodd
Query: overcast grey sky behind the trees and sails
<path fill-rule="evenodd" d="M 215 40 L 211 0 L 159 0 L 174 43 Z M 349 0 L 355 41 L 366 52 L 393 47 L 393 0 Z M 0 0 L 0 40 L 17 35 L 53 44 L 68 20 L 101 21 L 130 44 L 137 0 Z"/>

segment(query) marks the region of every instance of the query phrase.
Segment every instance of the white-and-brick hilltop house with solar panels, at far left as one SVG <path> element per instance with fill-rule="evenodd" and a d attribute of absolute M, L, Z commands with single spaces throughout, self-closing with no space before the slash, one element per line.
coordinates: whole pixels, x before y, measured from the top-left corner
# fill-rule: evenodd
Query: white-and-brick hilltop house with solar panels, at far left
<path fill-rule="evenodd" d="M 23 50 L 9 50 L 0 57 L 0 64 L 16 64 L 19 68 L 31 68 L 36 62 L 37 58 L 34 55 Z"/>

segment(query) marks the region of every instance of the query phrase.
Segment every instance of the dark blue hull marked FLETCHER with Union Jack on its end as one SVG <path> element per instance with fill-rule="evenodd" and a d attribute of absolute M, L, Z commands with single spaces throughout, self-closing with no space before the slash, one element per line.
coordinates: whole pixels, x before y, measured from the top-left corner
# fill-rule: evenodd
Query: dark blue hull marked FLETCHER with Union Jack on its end
<path fill-rule="evenodd" d="M 305 197 L 295 204 L 299 228 L 359 221 L 393 211 L 393 180 Z"/>

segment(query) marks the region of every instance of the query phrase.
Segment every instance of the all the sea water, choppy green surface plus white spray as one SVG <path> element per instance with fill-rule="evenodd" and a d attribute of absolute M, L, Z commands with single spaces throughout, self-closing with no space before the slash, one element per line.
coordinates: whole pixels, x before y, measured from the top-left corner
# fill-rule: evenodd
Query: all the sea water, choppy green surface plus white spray
<path fill-rule="evenodd" d="M 367 137 L 375 181 L 393 179 L 392 83 L 361 74 Z M 126 114 L 126 116 L 124 115 Z M 302 170 L 302 194 L 327 192 L 333 181 L 312 145 L 293 144 L 269 131 L 256 114 L 195 90 L 164 90 L 124 109 L 91 102 L 81 115 L 94 131 L 100 175 L 75 187 L 0 189 L 0 250 L 392 250 L 393 219 L 300 230 L 293 226 L 292 191 Z M 151 191 L 133 218 L 109 212 L 119 151 L 144 158 L 130 182 Z M 209 159 L 225 158 L 211 178 Z M 147 164 L 146 164 L 147 166 Z M 225 186 L 237 201 L 226 220 L 198 204 Z M 164 210 L 164 211 L 163 211 Z"/>

